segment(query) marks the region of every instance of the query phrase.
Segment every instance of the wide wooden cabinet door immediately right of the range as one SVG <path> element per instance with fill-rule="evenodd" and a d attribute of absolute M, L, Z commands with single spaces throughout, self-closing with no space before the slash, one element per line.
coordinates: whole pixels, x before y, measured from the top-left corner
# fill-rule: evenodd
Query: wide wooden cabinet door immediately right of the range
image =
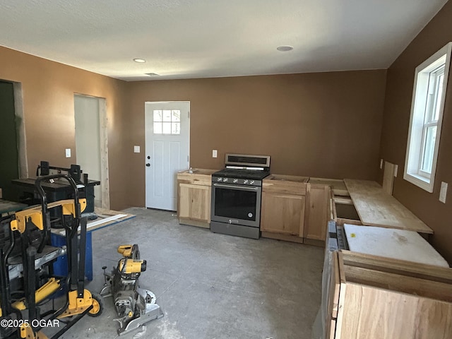
<path fill-rule="evenodd" d="M 262 192 L 261 230 L 303 236 L 304 196 Z"/>

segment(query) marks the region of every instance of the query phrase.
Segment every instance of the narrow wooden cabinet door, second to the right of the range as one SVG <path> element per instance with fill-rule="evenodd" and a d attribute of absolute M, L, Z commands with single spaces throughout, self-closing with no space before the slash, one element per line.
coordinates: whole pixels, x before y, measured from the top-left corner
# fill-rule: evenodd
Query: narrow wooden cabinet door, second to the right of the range
<path fill-rule="evenodd" d="M 305 238 L 325 241 L 330 191 L 330 186 L 307 185 L 307 208 L 304 218 Z"/>

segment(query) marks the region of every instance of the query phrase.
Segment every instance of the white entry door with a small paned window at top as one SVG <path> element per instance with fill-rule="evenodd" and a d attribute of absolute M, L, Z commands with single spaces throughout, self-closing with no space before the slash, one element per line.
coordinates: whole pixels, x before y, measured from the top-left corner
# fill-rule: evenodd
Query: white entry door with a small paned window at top
<path fill-rule="evenodd" d="M 177 209 L 177 172 L 189 168 L 190 102 L 145 102 L 146 207 Z"/>

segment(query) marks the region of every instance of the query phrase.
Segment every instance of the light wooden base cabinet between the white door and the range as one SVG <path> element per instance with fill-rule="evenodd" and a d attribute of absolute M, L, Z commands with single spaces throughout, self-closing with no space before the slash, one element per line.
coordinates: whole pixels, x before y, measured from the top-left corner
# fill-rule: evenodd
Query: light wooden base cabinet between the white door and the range
<path fill-rule="evenodd" d="M 210 186 L 214 170 L 194 169 L 177 174 L 177 216 L 179 223 L 210 227 Z"/>

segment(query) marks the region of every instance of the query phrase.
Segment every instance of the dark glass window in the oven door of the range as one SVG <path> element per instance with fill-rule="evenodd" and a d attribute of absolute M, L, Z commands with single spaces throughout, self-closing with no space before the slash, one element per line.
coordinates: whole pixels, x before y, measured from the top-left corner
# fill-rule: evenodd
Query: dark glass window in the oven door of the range
<path fill-rule="evenodd" d="M 256 221 L 258 192 L 249 187 L 237 189 L 215 187 L 215 215 L 224 218 Z"/>

